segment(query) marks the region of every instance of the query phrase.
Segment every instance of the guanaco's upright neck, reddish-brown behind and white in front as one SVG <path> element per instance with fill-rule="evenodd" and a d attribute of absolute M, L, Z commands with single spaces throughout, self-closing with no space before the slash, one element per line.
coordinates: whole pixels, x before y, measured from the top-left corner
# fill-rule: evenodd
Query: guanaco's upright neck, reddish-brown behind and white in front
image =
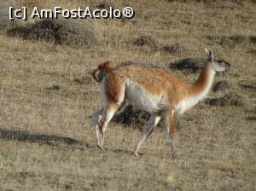
<path fill-rule="evenodd" d="M 208 90 L 212 86 L 215 71 L 210 61 L 207 61 L 199 78 L 191 86 L 191 94 L 193 96 L 206 96 Z"/>

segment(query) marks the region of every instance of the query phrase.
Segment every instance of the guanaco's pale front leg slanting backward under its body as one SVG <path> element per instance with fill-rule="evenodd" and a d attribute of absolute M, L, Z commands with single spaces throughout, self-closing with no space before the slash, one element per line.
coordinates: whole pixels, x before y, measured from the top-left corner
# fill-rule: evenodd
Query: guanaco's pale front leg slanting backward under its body
<path fill-rule="evenodd" d="M 154 127 L 156 126 L 156 124 L 158 124 L 160 119 L 161 119 L 160 116 L 151 115 L 147 127 L 143 130 L 143 136 L 141 137 L 140 141 L 137 143 L 137 147 L 134 150 L 134 154 L 136 156 L 137 156 L 138 149 L 143 144 L 143 142 L 145 142 L 148 136 L 152 133 L 152 131 L 154 130 Z"/>

